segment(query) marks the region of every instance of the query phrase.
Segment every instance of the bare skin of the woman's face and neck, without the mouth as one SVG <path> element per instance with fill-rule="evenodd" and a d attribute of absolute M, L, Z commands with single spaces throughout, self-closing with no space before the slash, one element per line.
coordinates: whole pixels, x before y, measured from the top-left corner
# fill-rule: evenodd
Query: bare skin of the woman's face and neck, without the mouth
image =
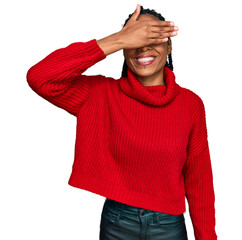
<path fill-rule="evenodd" d="M 140 15 L 139 20 L 157 20 L 158 18 L 151 14 Z M 164 82 L 164 66 L 166 64 L 167 56 L 172 51 L 172 43 L 169 38 L 168 41 L 159 44 L 153 44 L 136 49 L 123 49 L 123 55 L 126 59 L 128 68 L 135 74 L 137 79 L 144 86 L 165 85 Z M 138 65 L 135 58 L 139 55 L 154 55 L 155 61 L 147 66 Z"/>

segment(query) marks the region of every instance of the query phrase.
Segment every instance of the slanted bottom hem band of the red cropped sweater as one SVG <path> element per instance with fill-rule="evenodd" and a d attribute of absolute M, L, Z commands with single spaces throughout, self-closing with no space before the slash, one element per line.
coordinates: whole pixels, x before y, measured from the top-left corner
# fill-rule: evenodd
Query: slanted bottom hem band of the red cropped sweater
<path fill-rule="evenodd" d="M 117 183 L 103 178 L 88 175 L 80 170 L 72 170 L 68 184 L 135 207 L 173 215 L 183 214 L 186 211 L 184 196 L 180 200 L 160 198 L 117 185 Z"/>

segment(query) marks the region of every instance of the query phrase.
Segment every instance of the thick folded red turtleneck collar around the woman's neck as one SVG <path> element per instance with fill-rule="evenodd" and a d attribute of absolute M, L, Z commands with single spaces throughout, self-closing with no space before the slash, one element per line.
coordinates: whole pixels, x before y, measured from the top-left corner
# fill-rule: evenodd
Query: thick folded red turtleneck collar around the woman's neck
<path fill-rule="evenodd" d="M 180 86 L 175 81 L 174 72 L 164 66 L 164 82 L 166 85 L 144 86 L 128 68 L 128 77 L 121 77 L 121 90 L 128 96 L 143 103 L 155 106 L 164 105 L 172 101 L 180 92 Z"/>

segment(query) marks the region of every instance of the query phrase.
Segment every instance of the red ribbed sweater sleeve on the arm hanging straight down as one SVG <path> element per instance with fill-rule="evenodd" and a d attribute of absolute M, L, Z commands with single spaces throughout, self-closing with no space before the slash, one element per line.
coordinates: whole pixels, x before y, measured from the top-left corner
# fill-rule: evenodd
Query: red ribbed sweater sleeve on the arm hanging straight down
<path fill-rule="evenodd" d="M 215 194 L 203 101 L 192 105 L 192 129 L 183 167 L 185 193 L 196 240 L 217 240 Z"/>

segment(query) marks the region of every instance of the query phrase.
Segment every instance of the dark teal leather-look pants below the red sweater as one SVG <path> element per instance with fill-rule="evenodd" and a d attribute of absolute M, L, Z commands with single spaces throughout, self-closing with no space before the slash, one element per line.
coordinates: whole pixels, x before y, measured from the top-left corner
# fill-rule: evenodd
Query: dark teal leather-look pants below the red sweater
<path fill-rule="evenodd" d="M 187 240 L 183 214 L 170 215 L 106 198 L 100 240 Z"/>

